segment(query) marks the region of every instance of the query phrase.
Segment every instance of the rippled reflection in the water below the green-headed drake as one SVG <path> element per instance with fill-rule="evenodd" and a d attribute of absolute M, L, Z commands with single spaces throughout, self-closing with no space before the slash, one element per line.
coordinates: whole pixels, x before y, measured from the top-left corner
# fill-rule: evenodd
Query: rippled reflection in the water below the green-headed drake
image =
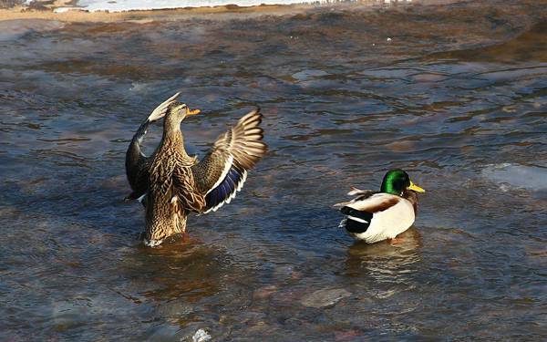
<path fill-rule="evenodd" d="M 421 260 L 422 237 L 418 230 L 410 227 L 397 236 L 397 243 L 383 241 L 366 244 L 356 241 L 347 249 L 346 275 L 367 275 L 378 280 L 397 279 L 413 271 L 412 265 Z"/>

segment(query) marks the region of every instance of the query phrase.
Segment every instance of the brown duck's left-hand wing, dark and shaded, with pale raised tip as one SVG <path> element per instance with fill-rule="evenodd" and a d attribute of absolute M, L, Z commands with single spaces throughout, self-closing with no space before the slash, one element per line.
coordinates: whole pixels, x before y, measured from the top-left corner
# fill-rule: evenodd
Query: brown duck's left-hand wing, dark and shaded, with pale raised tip
<path fill-rule="evenodd" d="M 126 200 L 135 200 L 141 198 L 148 190 L 149 182 L 149 159 L 140 149 L 140 144 L 151 122 L 159 120 L 165 116 L 170 104 L 173 103 L 181 93 L 176 93 L 172 97 L 163 101 L 160 106 L 152 110 L 150 116 L 140 125 L 139 130 L 133 136 L 129 143 L 126 153 L 126 174 L 128 176 L 131 192 Z"/>

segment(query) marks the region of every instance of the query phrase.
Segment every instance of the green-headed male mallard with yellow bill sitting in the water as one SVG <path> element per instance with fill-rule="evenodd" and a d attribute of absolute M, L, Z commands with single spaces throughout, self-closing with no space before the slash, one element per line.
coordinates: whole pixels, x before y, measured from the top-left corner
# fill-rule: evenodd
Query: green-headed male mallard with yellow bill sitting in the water
<path fill-rule="evenodd" d="M 353 188 L 347 194 L 357 195 L 355 199 L 335 204 L 346 215 L 340 226 L 367 244 L 394 239 L 414 223 L 418 211 L 416 192 L 426 191 L 410 181 L 407 172 L 387 171 L 380 192 Z"/>

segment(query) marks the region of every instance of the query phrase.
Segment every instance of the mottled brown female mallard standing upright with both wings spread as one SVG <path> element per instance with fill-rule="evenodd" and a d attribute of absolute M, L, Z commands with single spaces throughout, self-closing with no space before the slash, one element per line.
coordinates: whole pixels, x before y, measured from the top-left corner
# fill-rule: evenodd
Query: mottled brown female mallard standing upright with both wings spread
<path fill-rule="evenodd" d="M 126 154 L 126 171 L 133 192 L 146 208 L 144 244 L 156 246 L 186 231 L 188 214 L 216 211 L 243 187 L 247 171 L 263 157 L 262 114 L 253 110 L 222 134 L 205 158 L 197 161 L 184 150 L 181 122 L 200 110 L 176 102 L 178 93 L 155 109 L 140 126 Z M 150 122 L 163 120 L 160 145 L 147 158 L 140 151 Z"/>

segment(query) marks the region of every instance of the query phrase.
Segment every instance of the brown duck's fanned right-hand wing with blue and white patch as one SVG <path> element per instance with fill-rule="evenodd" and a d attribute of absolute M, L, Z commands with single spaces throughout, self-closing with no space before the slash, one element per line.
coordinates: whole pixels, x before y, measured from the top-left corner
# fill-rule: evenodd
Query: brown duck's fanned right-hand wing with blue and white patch
<path fill-rule="evenodd" d="M 263 116 L 255 109 L 222 134 L 205 158 L 191 171 L 199 191 L 205 194 L 203 212 L 216 211 L 229 203 L 247 178 L 247 171 L 263 157 Z"/>

